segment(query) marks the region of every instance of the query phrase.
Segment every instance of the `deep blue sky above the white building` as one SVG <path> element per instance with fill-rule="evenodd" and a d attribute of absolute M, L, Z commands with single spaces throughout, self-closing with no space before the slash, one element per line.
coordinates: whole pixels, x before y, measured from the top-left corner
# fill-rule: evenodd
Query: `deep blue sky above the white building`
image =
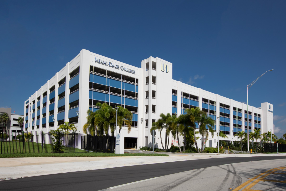
<path fill-rule="evenodd" d="M 286 1 L 1 1 L 0 107 L 24 101 L 81 49 L 140 67 L 173 63 L 173 79 L 246 103 L 273 104 L 286 133 Z M 31 83 L 32 82 L 32 83 Z"/>

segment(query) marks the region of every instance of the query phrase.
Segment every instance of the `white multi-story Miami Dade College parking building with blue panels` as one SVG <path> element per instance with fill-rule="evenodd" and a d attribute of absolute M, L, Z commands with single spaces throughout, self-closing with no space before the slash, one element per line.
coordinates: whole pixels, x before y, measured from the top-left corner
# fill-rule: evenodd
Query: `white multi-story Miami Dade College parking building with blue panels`
<path fill-rule="evenodd" d="M 138 68 L 84 49 L 24 102 L 25 128 L 49 131 L 69 121 L 80 132 L 86 123 L 86 112 L 95 111 L 97 102 L 121 105 L 133 113 L 132 131 L 128 134 L 127 127 L 121 131 L 130 147 L 150 145 L 151 124 L 160 113 L 180 115 L 192 107 L 206 111 L 215 121 L 216 132 L 219 124 L 219 131 L 228 135 L 226 141 L 238 140 L 234 135 L 247 131 L 246 104 L 173 80 L 172 63 L 149 57 Z M 273 129 L 272 104 L 249 106 L 248 115 L 250 131 Z M 155 142 L 160 148 L 158 137 Z M 164 136 L 162 139 L 164 142 Z M 199 140 L 198 144 L 203 142 Z M 171 143 L 177 145 L 173 138 Z M 216 133 L 206 146 L 217 146 Z"/>

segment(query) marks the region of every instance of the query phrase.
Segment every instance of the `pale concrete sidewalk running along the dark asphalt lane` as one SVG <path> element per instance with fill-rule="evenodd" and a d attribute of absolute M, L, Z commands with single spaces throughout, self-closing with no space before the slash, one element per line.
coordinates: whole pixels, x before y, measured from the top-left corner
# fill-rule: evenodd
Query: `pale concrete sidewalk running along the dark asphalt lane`
<path fill-rule="evenodd" d="M 173 154 L 169 157 L 26 157 L 0 158 L 0 180 L 122 166 L 155 164 L 219 157 L 277 156 L 283 154 Z"/>

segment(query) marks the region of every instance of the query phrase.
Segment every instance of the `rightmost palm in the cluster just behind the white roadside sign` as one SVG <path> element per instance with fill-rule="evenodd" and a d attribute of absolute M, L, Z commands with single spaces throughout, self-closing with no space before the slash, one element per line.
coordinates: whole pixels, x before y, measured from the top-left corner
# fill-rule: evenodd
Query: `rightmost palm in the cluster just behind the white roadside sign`
<path fill-rule="evenodd" d="M 117 109 L 117 125 L 119 127 L 119 133 L 120 133 L 122 125 L 124 123 L 128 127 L 128 129 L 127 129 L 128 133 L 130 133 L 133 114 L 131 113 L 131 111 L 129 111 L 128 109 L 126 109 L 124 107 L 121 107 L 120 105 L 118 105 L 117 107 L 118 107 L 118 109 Z M 116 111 L 114 111 L 114 112 L 115 112 L 114 120 L 115 120 L 115 124 L 116 124 Z"/>

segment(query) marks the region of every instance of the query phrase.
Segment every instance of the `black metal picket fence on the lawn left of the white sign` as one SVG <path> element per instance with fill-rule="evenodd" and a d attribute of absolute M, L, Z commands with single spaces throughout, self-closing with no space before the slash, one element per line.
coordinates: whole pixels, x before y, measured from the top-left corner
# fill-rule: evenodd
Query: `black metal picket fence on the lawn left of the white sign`
<path fill-rule="evenodd" d="M 1 131 L 0 153 L 54 153 L 53 138 L 51 133 L 44 131 Z M 68 133 L 62 136 L 60 142 L 63 152 L 114 153 L 115 149 L 114 136 Z"/>

